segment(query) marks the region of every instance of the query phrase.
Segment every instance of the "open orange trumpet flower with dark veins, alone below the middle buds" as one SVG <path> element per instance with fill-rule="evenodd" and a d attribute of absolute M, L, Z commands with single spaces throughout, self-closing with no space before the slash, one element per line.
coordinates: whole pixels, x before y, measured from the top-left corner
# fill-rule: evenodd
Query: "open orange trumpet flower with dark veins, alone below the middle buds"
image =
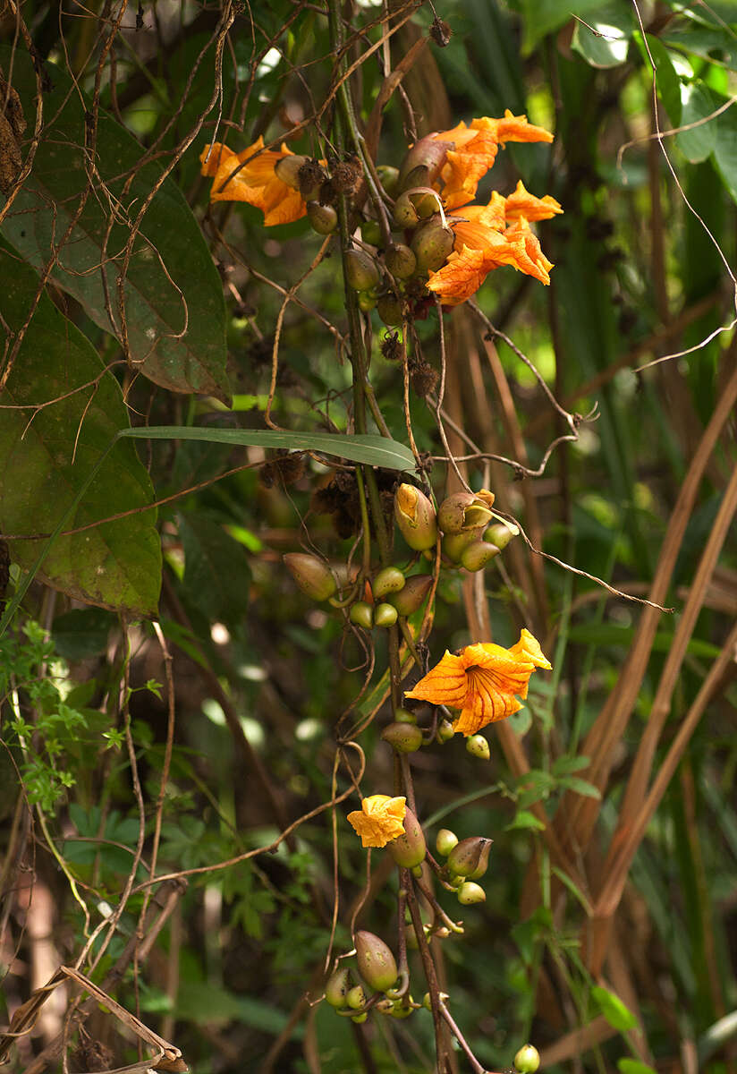
<path fill-rule="evenodd" d="M 519 641 L 510 649 L 477 642 L 458 654 L 446 651 L 440 664 L 404 696 L 460 709 L 454 730 L 468 738 L 521 709 L 515 694 L 527 697 L 535 668 L 549 670 L 550 664 L 536 639 L 522 629 Z"/>

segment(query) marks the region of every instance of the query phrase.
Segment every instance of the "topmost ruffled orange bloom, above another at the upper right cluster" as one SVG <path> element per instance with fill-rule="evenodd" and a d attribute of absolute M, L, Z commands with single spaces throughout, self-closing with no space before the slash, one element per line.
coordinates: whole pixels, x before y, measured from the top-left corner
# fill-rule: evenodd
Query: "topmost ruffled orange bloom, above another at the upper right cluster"
<path fill-rule="evenodd" d="M 514 116 L 507 108 L 502 119 L 483 116 L 467 126 L 458 124 L 449 131 L 430 135 L 446 142 L 448 149 L 440 172 L 441 193 L 447 209 L 472 201 L 478 180 L 497 159 L 499 146 L 506 142 L 552 142 L 552 134 L 527 121 L 527 116 Z"/>

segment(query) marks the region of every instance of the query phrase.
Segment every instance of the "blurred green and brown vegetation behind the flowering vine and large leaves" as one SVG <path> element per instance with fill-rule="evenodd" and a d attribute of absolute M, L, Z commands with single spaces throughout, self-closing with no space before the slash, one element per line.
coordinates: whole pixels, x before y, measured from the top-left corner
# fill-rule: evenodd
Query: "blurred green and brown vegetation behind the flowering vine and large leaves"
<path fill-rule="evenodd" d="M 441 985 L 489 1070 L 508 1066 L 529 1039 L 546 1070 L 726 1072 L 737 1061 L 737 3 L 347 3 L 360 121 L 436 12 L 452 34 L 444 47 L 417 50 L 385 110 L 378 161 L 400 163 L 408 124 L 422 135 L 510 108 L 555 133 L 551 146 L 508 145 L 478 199 L 510 193 L 519 178 L 558 199 L 564 215 L 540 228 L 556 265 L 551 285 L 503 268 L 476 299 L 564 409 L 583 416 L 577 440 L 559 445 L 539 477 L 517 480 L 514 466 L 481 459 L 463 466 L 549 558 L 520 537 L 482 576 L 443 571 L 432 663 L 488 627 L 510 644 L 528 626 L 554 671 L 537 677 L 499 734 L 491 728 L 490 761 L 460 740 L 412 757 L 428 841 L 443 826 L 495 840 L 486 902 L 463 908 L 463 937 L 432 942 Z M 107 115 L 100 166 L 117 145 L 113 125 L 137 140 L 141 157 L 151 150 L 154 178 L 142 200 L 174 165 L 168 182 L 215 260 L 220 281 L 208 277 L 202 292 L 224 294 L 232 407 L 220 374 L 183 394 L 119 363 L 131 424 L 262 429 L 278 332 L 274 420 L 345 431 L 339 250 L 285 302 L 322 236 L 306 220 L 265 230 L 251 206 L 208 206 L 198 162 L 216 125 L 236 151 L 263 134 L 321 156 L 314 126 L 297 136 L 293 128 L 334 85 L 322 4 L 13 0 L 0 15 L 0 74 L 26 110 L 24 153 L 36 79 L 54 84 L 44 121 L 63 101 L 77 108 L 53 143 L 58 159 L 44 165 L 49 197 L 68 204 L 65 170 L 85 144 L 85 115 Z M 40 270 L 24 246 L 28 219 L 6 217 L 2 249 Z M 194 291 L 205 278 L 195 253 Z M 187 244 L 178 257 L 186 272 Z M 0 289 L 13 272 L 5 258 Z M 90 315 L 84 279 L 51 277 L 50 302 L 104 362 L 118 362 L 120 340 Z M 218 301 L 211 314 L 192 305 L 203 348 L 208 325 L 216 342 L 221 330 Z M 439 368 L 434 309 L 415 328 Z M 393 437 L 406 442 L 402 369 L 382 354 L 383 336 L 374 314 L 371 382 Z M 477 448 L 537 468 L 568 429 L 534 374 L 465 306 L 444 317 L 444 340 L 453 452 Z M 28 376 L 38 401 L 43 366 Z M 411 413 L 419 450 L 442 456 L 433 408 L 413 395 Z M 10 537 L 56 522 L 41 503 L 16 504 L 10 460 L 19 436 L 12 445 L 0 436 L 0 526 Z M 79 969 L 200 1074 L 431 1072 L 427 1012 L 355 1026 L 313 1002 L 335 924 L 329 811 L 272 854 L 207 868 L 270 843 L 333 794 L 335 728 L 344 713 L 355 717 L 366 647 L 339 614 L 300 594 L 281 554 L 318 548 L 334 565 L 352 554 L 354 537 L 315 502 L 336 471 L 306 456 L 285 484 L 260 448 L 185 440 L 151 441 L 138 458 L 164 500 L 158 625 L 136 616 L 135 603 L 122 612 L 94 607 L 105 601 L 36 579 L 0 641 L 3 1020 L 58 966 L 75 962 L 124 892 L 114 927 Z M 430 480 L 442 498 L 442 461 Z M 30 566 L 28 543 L 6 546 L 9 597 L 18 564 Z M 116 552 L 123 564 L 139 554 L 135 534 Z M 409 557 L 398 542 L 397 562 Z M 375 684 L 386 651 L 374 642 Z M 360 699 L 358 713 L 369 709 Z M 360 736 L 367 793 L 392 783 L 380 741 L 387 719 L 380 710 Z M 349 787 L 341 771 L 338 789 Z M 344 819 L 355 804 L 336 811 L 338 953 L 351 946 L 366 884 L 365 852 Z M 157 875 L 201 871 L 138 887 L 154 842 Z M 392 942 L 389 866 L 374 855 L 358 920 Z M 158 913 L 161 930 L 146 944 Z M 411 967 L 422 999 L 422 969 Z M 13 1044 L 11 1070 L 59 1069 L 58 1048 L 39 1055 L 62 1031 L 62 991 Z M 83 1027 L 72 1024 L 68 1044 L 73 1071 L 135 1062 L 134 1037 L 97 1005 Z M 467 1069 L 462 1055 L 455 1061 Z"/>

